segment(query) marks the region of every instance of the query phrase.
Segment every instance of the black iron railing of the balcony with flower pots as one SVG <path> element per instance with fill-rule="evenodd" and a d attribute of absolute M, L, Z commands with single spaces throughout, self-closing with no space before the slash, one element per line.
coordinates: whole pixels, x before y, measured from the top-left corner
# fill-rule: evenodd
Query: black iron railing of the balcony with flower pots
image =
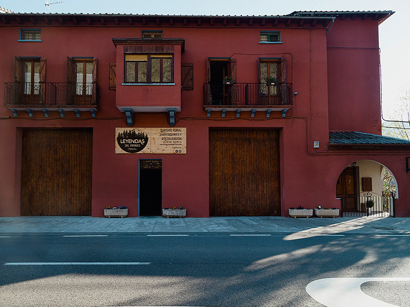
<path fill-rule="evenodd" d="M 203 84 L 203 105 L 274 107 L 293 104 L 292 83 Z"/>

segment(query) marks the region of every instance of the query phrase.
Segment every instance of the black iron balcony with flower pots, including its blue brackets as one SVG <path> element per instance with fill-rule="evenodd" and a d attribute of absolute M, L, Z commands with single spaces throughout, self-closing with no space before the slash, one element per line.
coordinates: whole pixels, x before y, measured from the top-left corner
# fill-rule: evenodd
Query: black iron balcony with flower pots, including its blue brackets
<path fill-rule="evenodd" d="M 265 83 L 234 83 L 232 85 L 203 84 L 203 107 L 208 116 L 211 111 L 272 111 L 282 112 L 282 116 L 293 105 L 292 83 L 267 85 Z M 239 111 L 238 111 L 239 110 Z"/>

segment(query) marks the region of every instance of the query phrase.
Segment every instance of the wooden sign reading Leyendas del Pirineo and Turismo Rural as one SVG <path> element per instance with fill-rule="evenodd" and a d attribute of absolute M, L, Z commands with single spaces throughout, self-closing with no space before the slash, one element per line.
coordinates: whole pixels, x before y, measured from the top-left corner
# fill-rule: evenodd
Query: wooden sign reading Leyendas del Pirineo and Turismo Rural
<path fill-rule="evenodd" d="M 187 128 L 115 128 L 115 153 L 187 153 Z"/>

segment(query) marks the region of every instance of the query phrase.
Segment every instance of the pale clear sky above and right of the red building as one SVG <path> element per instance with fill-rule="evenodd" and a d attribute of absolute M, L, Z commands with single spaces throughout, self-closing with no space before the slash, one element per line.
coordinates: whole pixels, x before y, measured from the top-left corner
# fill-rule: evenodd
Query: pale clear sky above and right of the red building
<path fill-rule="evenodd" d="M 50 0 L 49 3 L 61 0 Z M 163 15 L 284 15 L 293 11 L 379 11 L 396 13 L 379 27 L 382 64 L 383 115 L 392 114 L 405 91 L 410 90 L 410 12 L 407 0 L 62 0 L 50 5 L 51 13 L 121 13 Z M 44 13 L 45 0 L 7 0 L 0 6 L 14 12 Z M 49 11 L 47 11 L 49 12 Z"/>

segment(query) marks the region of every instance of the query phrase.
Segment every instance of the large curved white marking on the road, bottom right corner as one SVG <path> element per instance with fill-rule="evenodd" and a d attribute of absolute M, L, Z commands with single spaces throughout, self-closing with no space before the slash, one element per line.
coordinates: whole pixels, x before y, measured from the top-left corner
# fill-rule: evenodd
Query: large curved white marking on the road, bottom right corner
<path fill-rule="evenodd" d="M 327 307 L 397 307 L 362 292 L 360 286 L 367 281 L 410 281 L 410 277 L 323 278 L 310 282 L 306 292 Z"/>

